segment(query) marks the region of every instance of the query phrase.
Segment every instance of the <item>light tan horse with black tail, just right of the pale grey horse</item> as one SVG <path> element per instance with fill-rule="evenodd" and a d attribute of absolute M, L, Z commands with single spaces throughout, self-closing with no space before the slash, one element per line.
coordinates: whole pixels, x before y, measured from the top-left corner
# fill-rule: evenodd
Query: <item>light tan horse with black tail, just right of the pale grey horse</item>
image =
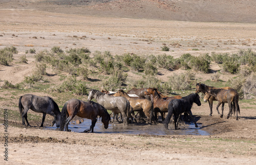
<path fill-rule="evenodd" d="M 130 97 L 122 89 L 118 90 L 114 95 L 114 97 L 120 96 L 126 98 L 130 102 L 134 111 L 143 111 L 150 123 L 152 122 L 153 103 L 150 100 Z"/>

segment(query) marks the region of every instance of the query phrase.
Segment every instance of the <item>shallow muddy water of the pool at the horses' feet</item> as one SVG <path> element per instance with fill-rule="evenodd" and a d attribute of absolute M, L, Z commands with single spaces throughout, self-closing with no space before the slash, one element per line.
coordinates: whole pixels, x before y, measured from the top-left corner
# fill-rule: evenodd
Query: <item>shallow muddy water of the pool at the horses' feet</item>
<path fill-rule="evenodd" d="M 81 124 L 70 123 L 69 129 L 74 132 L 83 132 L 84 130 L 90 129 L 91 120 L 84 119 Z M 122 133 L 122 134 L 144 134 L 144 135 L 210 135 L 208 132 L 200 130 L 200 124 L 198 128 L 195 127 L 194 123 L 180 125 L 179 130 L 174 129 L 173 124 L 169 124 L 169 130 L 166 130 L 162 124 L 129 124 L 124 126 L 122 123 L 110 123 L 109 128 L 105 129 L 101 121 L 97 121 L 94 132 L 96 133 Z M 46 127 L 46 129 L 58 130 L 54 125 L 53 127 Z"/>

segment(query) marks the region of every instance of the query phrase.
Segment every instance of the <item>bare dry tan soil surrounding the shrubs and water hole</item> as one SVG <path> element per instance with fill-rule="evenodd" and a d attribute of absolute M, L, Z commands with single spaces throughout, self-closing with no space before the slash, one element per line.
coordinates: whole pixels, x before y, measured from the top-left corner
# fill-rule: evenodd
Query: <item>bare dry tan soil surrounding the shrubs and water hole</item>
<path fill-rule="evenodd" d="M 225 1 L 223 8 L 228 8 L 227 5 L 235 8 L 238 6 L 234 5 L 235 3 L 241 3 L 239 7 L 245 12 L 237 12 L 229 16 L 223 12 L 224 20 L 220 19 L 222 17 L 219 14 L 219 19 L 213 20 L 218 22 L 207 22 L 211 20 L 205 14 L 207 12 L 200 13 L 200 17 L 194 16 L 195 19 L 188 16 L 186 19 L 174 19 L 163 18 L 164 16 L 153 17 L 148 14 L 139 17 L 139 14 L 131 14 L 136 10 L 140 11 L 138 9 L 144 7 L 143 3 L 148 4 L 145 12 L 157 13 L 161 9 L 165 12 L 163 15 L 166 16 L 166 10 L 173 11 L 176 5 L 180 8 L 176 7 L 175 12 L 184 13 L 182 11 L 186 8 L 180 5 L 181 2 L 191 1 L 173 1 L 174 6 L 159 3 L 161 1 L 139 1 L 141 4 L 137 5 L 133 2 L 125 7 L 125 10 L 132 11 L 126 11 L 127 16 L 124 14 L 123 6 L 118 9 L 117 4 L 122 1 L 109 1 L 105 4 L 80 1 L 81 3 L 88 2 L 91 6 L 72 5 L 74 1 L 64 1 L 70 2 L 70 5 L 53 1 L 1 2 L 0 49 L 15 46 L 19 53 L 14 55 L 14 62 L 11 66 L 0 65 L 0 86 L 3 85 L 4 80 L 13 84 L 22 82 L 24 76 L 31 74 L 36 65 L 34 54 L 27 54 L 27 64 L 19 63 L 18 60 L 26 50 L 32 48 L 39 52 L 45 49 L 50 50 L 53 46 L 60 46 L 62 50 L 84 47 L 91 52 L 110 51 L 113 55 L 135 53 L 147 56 L 163 54 L 161 46 L 166 44 L 172 51 L 164 53 L 174 57 L 179 57 L 184 53 L 200 55 L 211 52 L 237 53 L 240 49 L 249 48 L 256 50 L 255 17 L 251 16 L 255 16 L 256 5 L 253 5 L 255 1 Z M 198 4 L 200 2 L 197 1 Z M 204 2 L 209 5 L 212 1 Z M 207 5 L 200 5 L 200 7 L 205 8 L 205 11 L 207 9 Z M 112 9 L 115 17 L 111 13 Z M 100 11 L 99 14 L 96 15 L 96 11 Z M 248 15 L 243 15 L 244 13 Z M 123 15 L 126 18 L 122 18 Z M 242 21 L 245 17 L 246 21 Z M 193 51 L 193 49 L 199 51 Z M 220 67 L 212 63 L 211 69 L 218 71 Z M 53 70 L 49 69 L 47 72 L 51 74 Z M 160 72 L 158 78 L 166 81 L 168 76 L 182 73 L 184 70 L 170 72 L 162 69 Z M 223 73 L 220 79 L 227 81 L 233 76 Z M 198 80 L 207 80 L 210 79 L 210 74 L 197 73 L 196 77 Z M 131 72 L 129 78 L 138 77 Z M 59 80 L 57 75 L 49 80 L 56 84 L 60 83 L 57 81 Z M 50 93 L 45 92 L 34 94 L 51 96 Z M 8 92 L 0 93 L 0 97 L 11 99 Z M 14 100 L 14 103 L 17 103 L 17 100 Z M 0 100 L 0 104 L 1 110 L 15 109 L 5 101 Z M 216 103 L 214 107 L 215 105 Z M 227 108 L 226 105 L 224 117 L 227 115 Z M 31 125 L 37 125 L 36 127 L 20 128 L 20 120 L 10 121 L 10 124 L 16 122 L 19 127 L 15 124 L 8 127 L 9 158 L 6 162 L 1 156 L 0 162 L 1 164 L 2 162 L 5 164 L 255 164 L 255 100 L 251 103 L 241 102 L 240 109 L 239 121 L 236 121 L 233 117 L 228 120 L 221 119 L 215 109 L 213 116 L 209 117 L 208 103 L 202 103 L 200 107 L 194 106 L 193 114 L 197 116 L 197 122 L 201 124 L 200 129 L 210 133 L 207 136 L 60 132 L 39 128 L 39 124 L 33 122 Z M 50 120 L 52 119 L 48 119 L 48 125 Z M 170 125 L 169 131 L 172 131 L 173 127 Z M 1 125 L 1 130 L 4 134 L 3 125 Z M 1 138 L 2 154 L 4 143 L 5 139 Z"/>

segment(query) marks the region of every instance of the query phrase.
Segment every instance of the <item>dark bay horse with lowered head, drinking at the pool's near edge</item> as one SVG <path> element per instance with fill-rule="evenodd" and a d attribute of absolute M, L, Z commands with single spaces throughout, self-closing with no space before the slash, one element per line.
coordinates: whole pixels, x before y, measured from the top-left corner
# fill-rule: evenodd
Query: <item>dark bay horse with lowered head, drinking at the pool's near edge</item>
<path fill-rule="evenodd" d="M 61 122 L 59 130 L 64 131 L 64 128 L 66 127 L 65 131 L 69 131 L 69 122 L 75 115 L 92 120 L 90 130 L 87 131 L 92 131 L 92 133 L 94 132 L 94 127 L 98 116 L 102 117 L 101 122 L 104 124 L 105 129 L 109 127 L 109 122 L 111 120 L 108 111 L 106 111 L 106 109 L 98 103 L 93 101 L 84 102 L 78 99 L 70 99 L 64 104 L 61 110 Z"/>

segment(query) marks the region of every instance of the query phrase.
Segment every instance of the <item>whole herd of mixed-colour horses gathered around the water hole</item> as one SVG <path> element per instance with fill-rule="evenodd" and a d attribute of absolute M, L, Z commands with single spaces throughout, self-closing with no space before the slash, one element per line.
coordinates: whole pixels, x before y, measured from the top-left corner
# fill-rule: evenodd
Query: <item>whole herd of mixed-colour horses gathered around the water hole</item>
<path fill-rule="evenodd" d="M 88 132 L 94 132 L 95 123 L 98 116 L 101 117 L 101 122 L 104 128 L 109 127 L 111 122 L 111 115 L 108 110 L 113 113 L 113 121 L 117 119 L 117 115 L 121 115 L 121 120 L 124 125 L 129 124 L 131 121 L 136 121 L 136 115 L 139 113 L 140 117 L 146 117 L 148 123 L 158 120 L 158 113 L 161 114 L 162 123 L 165 129 L 168 129 L 168 124 L 173 116 L 175 129 L 178 129 L 178 122 L 181 114 L 188 114 L 194 121 L 195 127 L 198 127 L 196 120 L 191 112 L 193 103 L 198 106 L 201 105 L 199 92 L 204 93 L 204 102 L 209 103 L 210 114 L 212 115 L 212 102 L 218 101 L 217 112 L 220 117 L 223 117 L 224 104 L 228 103 L 229 112 L 227 119 L 233 113 L 236 114 L 236 120 L 238 120 L 239 108 L 239 96 L 238 92 L 230 87 L 216 88 L 207 86 L 205 84 L 197 83 L 196 92 L 191 93 L 186 97 L 174 96 L 168 97 L 162 95 L 157 88 L 133 88 L 127 92 L 120 89 L 116 93 L 108 93 L 108 91 L 91 89 L 88 95 L 88 101 L 81 101 L 78 99 L 71 99 L 65 103 L 61 112 L 58 105 L 50 97 L 39 97 L 31 94 L 26 94 L 19 98 L 19 113 L 22 117 L 22 124 L 27 122 L 26 126 L 30 126 L 27 119 L 27 112 L 29 109 L 43 113 L 42 122 L 40 127 L 44 126 L 46 114 L 54 116 L 52 125 L 56 123 L 56 127 L 59 127 L 60 131 L 69 131 L 69 122 L 76 115 L 82 118 L 87 118 L 92 121 L 90 130 Z M 134 97 L 134 95 L 136 97 Z M 96 102 L 91 101 L 95 99 Z M 222 104 L 222 114 L 220 114 L 218 108 Z M 135 112 L 137 114 L 135 115 Z M 165 113 L 167 113 L 165 117 Z M 113 122 L 112 121 L 112 122 Z"/>

